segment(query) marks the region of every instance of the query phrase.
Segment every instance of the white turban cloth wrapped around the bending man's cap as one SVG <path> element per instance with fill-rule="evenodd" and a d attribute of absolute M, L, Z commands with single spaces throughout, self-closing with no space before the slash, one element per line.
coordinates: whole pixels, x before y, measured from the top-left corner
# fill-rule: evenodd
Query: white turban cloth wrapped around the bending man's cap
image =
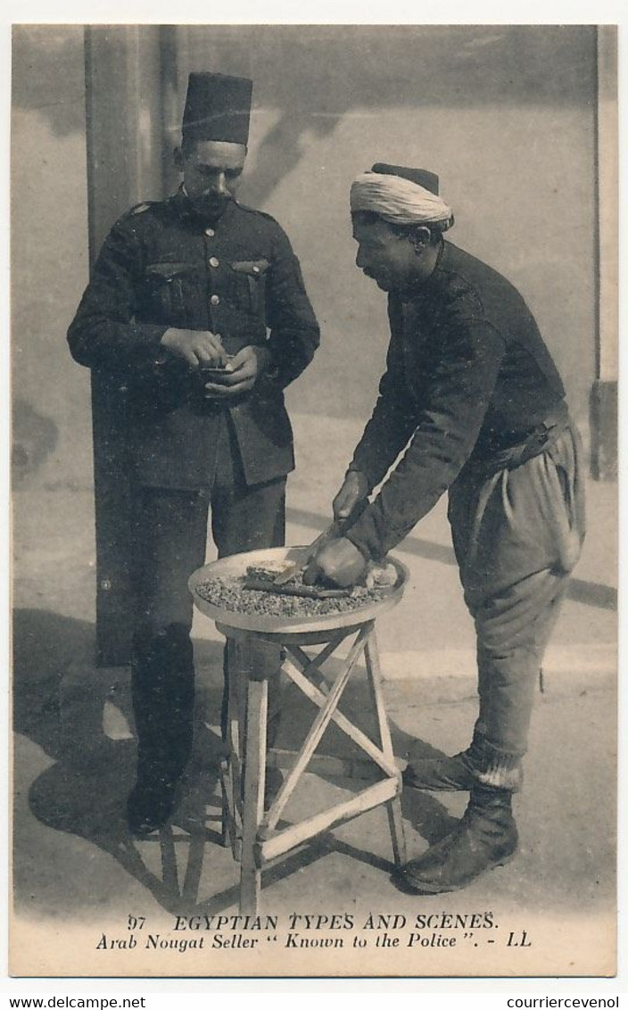
<path fill-rule="evenodd" d="M 351 186 L 351 213 L 371 211 L 392 224 L 453 224 L 453 212 L 444 200 L 402 176 L 364 172 Z"/>

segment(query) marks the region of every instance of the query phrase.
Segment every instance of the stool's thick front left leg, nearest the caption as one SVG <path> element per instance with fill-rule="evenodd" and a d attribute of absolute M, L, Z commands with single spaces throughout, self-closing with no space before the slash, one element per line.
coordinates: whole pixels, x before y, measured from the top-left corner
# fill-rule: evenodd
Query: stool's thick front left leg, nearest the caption
<path fill-rule="evenodd" d="M 240 869 L 240 913 L 242 915 L 257 914 L 261 886 L 261 872 L 255 857 L 255 843 L 264 817 L 268 704 L 268 681 L 249 680 L 246 705 L 246 756 Z"/>

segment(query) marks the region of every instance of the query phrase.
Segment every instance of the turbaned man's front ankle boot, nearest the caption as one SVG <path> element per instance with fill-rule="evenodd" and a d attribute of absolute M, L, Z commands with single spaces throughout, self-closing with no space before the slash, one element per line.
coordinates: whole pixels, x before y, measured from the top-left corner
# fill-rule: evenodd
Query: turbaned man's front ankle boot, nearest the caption
<path fill-rule="evenodd" d="M 424 855 L 401 867 L 395 880 L 414 894 L 458 891 L 511 860 L 518 840 L 512 791 L 476 784 L 459 824 Z"/>

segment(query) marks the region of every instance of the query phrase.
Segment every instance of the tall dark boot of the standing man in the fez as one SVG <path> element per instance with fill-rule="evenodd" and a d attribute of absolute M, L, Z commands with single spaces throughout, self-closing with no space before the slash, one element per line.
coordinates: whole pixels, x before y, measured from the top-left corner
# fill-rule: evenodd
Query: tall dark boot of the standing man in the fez
<path fill-rule="evenodd" d="M 192 750 L 194 663 L 187 628 L 136 636 L 131 666 L 137 730 L 137 781 L 127 801 L 132 834 L 143 836 L 169 820 L 176 789 Z"/>

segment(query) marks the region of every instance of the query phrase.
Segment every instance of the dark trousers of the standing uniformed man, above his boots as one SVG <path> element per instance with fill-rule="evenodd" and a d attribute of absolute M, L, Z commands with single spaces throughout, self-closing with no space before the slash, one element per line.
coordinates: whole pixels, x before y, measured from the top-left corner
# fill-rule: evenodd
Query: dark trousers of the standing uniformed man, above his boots
<path fill-rule="evenodd" d="M 220 558 L 284 543 L 286 478 L 247 486 L 228 434 L 225 426 L 211 490 L 136 489 L 131 691 L 140 780 L 176 779 L 190 756 L 194 662 L 188 579 L 205 562 L 210 509 Z M 237 676 L 233 662 L 238 654 L 225 648 L 223 732 L 227 683 Z M 269 670 L 271 736 L 279 716 L 279 650 L 259 645 L 247 661 Z"/>

